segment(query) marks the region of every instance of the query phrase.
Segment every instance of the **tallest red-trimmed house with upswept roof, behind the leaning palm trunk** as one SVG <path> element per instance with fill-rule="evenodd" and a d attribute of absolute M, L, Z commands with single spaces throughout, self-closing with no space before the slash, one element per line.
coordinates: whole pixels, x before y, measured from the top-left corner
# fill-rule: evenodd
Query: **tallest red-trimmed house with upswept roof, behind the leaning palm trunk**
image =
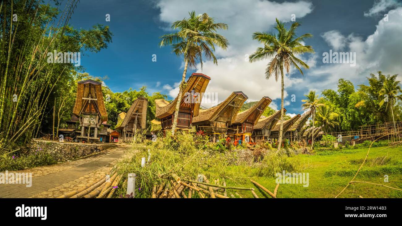
<path fill-rule="evenodd" d="M 201 99 L 208 86 L 209 78 L 205 74 L 193 73 L 185 84 L 182 93 L 179 111 L 177 115 L 177 129 L 189 130 L 193 117 L 198 116 Z M 178 97 L 169 103 L 164 99 L 156 99 L 156 118 L 160 119 L 162 132 L 166 135 L 166 130 L 172 129 L 174 113 Z"/>

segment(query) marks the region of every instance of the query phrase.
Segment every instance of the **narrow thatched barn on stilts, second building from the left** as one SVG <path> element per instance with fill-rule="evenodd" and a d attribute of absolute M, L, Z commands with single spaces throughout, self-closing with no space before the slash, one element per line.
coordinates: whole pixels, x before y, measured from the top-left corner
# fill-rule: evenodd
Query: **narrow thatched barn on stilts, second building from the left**
<path fill-rule="evenodd" d="M 147 107 L 148 100 L 145 97 L 135 99 L 121 125 L 116 127 L 116 130 L 120 132 L 119 141 L 136 142 L 135 135 L 146 129 Z"/>

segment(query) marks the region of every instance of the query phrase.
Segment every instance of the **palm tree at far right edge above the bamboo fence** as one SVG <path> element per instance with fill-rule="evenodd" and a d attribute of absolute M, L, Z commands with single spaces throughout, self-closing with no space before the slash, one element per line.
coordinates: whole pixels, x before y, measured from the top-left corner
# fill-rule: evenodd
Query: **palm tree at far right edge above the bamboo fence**
<path fill-rule="evenodd" d="M 386 104 L 385 109 L 388 109 L 388 104 L 391 105 L 391 114 L 392 114 L 392 121 L 394 122 L 394 128 L 395 126 L 395 119 L 394 119 L 394 105 L 397 100 L 402 100 L 402 95 L 400 94 L 402 92 L 401 87 L 399 82 L 396 81 L 396 77 L 398 75 L 394 74 L 393 76 L 388 75 L 386 80 L 384 80 L 384 84 L 379 90 L 379 98 L 381 101 L 379 102 L 379 106 L 382 107 L 384 103 Z"/>

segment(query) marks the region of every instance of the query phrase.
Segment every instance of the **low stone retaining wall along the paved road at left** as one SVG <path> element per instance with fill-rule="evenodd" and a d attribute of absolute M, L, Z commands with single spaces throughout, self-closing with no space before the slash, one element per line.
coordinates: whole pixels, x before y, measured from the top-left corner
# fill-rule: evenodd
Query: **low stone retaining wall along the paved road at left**
<path fill-rule="evenodd" d="M 38 151 L 45 151 L 58 162 L 73 160 L 75 158 L 80 158 L 116 146 L 115 144 L 83 144 L 39 139 L 33 139 L 32 141 L 33 142 L 29 148 L 29 154 L 35 154 Z"/>

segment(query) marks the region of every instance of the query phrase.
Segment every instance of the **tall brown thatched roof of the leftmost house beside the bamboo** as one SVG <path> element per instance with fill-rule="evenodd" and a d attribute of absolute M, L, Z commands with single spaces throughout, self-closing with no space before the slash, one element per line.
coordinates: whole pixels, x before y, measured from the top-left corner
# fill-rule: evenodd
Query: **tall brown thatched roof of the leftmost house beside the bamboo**
<path fill-rule="evenodd" d="M 77 82 L 77 96 L 73 114 L 99 114 L 102 121 L 107 121 L 107 112 L 103 101 L 102 83 L 88 79 Z M 84 98 L 84 99 L 83 99 Z"/>

